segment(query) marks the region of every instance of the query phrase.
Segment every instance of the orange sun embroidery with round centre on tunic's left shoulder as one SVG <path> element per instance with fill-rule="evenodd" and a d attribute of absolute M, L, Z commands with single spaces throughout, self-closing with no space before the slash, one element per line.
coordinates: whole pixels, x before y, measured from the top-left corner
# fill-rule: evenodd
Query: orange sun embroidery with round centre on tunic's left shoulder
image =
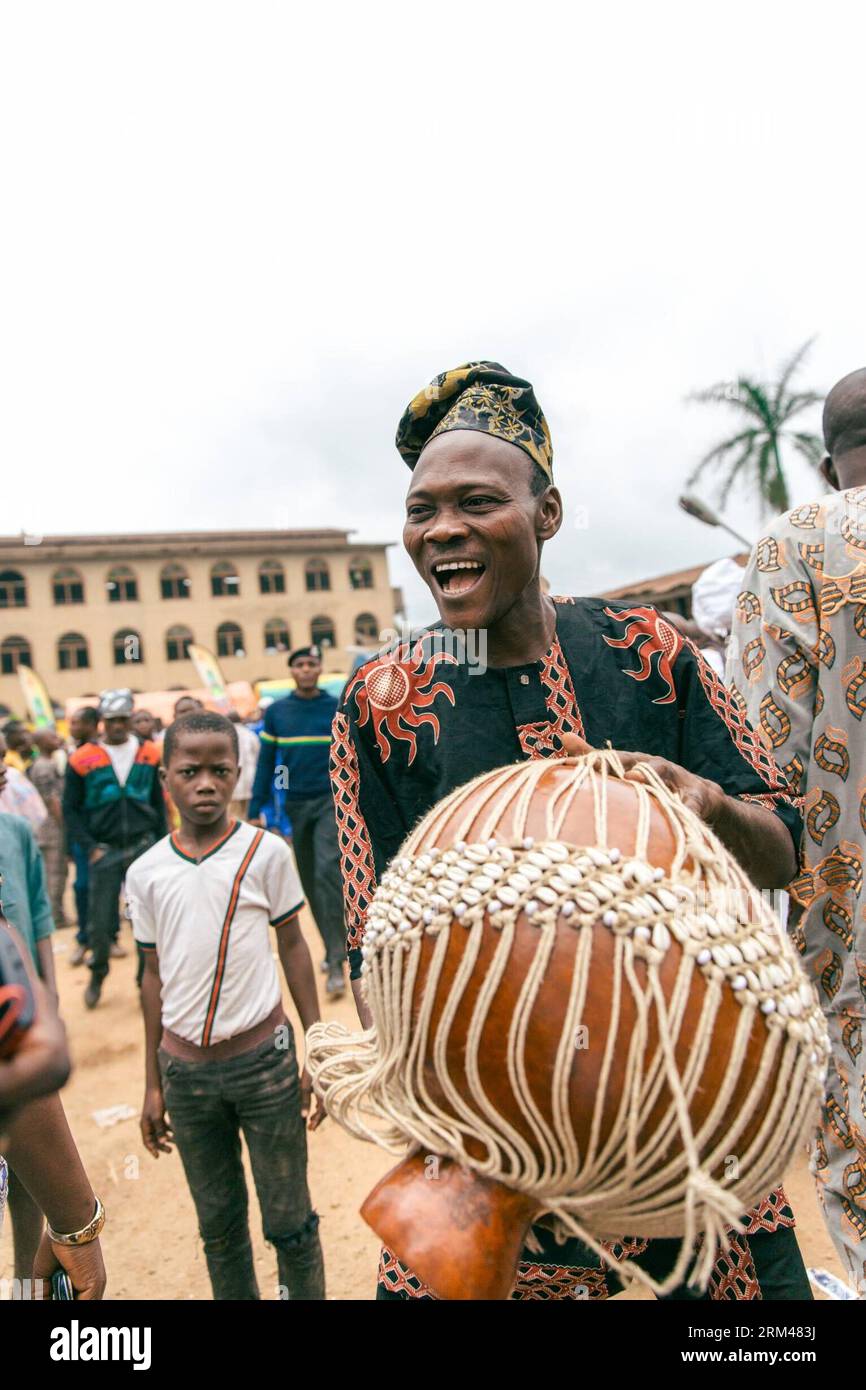
<path fill-rule="evenodd" d="M 423 724 L 431 727 L 434 742 L 439 741 L 439 720 L 430 706 L 438 695 L 455 703 L 450 685 L 435 681 L 439 662 L 456 666 L 457 657 L 443 651 L 427 656 L 423 641 L 414 646 L 403 642 L 375 664 L 361 667 L 348 688 L 346 699 L 354 695 L 359 728 L 368 721 L 373 723 L 384 763 L 391 758 L 391 739 L 400 739 L 409 744 L 409 766 L 411 766 L 418 751 L 414 731 Z"/>

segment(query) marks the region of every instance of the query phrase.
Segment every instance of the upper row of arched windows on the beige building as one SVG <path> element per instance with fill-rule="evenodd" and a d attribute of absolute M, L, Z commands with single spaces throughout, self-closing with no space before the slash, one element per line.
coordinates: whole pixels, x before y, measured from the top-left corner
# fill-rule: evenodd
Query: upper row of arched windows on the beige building
<path fill-rule="evenodd" d="M 368 560 L 349 563 L 349 582 L 353 589 L 373 588 L 373 567 Z M 304 566 L 307 594 L 331 588 L 331 567 L 327 560 L 307 560 Z M 54 603 L 83 603 L 85 581 L 78 570 L 65 567 L 51 575 Z M 135 603 L 139 596 L 139 581 L 128 564 L 115 564 L 106 575 L 106 592 L 110 603 Z M 210 592 L 213 598 L 231 598 L 240 594 L 240 575 L 229 560 L 211 566 Z M 264 560 L 259 566 L 259 592 L 285 594 L 286 577 L 279 560 Z M 160 570 L 160 594 L 164 599 L 188 599 L 192 594 L 189 574 L 182 564 L 164 564 Z M 26 580 L 18 570 L 0 571 L 0 607 L 26 607 Z"/>

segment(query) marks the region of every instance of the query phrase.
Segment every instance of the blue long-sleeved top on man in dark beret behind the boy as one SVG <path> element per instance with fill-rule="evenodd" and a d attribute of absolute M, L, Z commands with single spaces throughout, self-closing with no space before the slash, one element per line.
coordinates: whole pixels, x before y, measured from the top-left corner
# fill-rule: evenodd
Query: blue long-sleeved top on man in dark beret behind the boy
<path fill-rule="evenodd" d="M 293 801 L 331 795 L 328 758 L 336 706 L 335 696 L 322 689 L 313 699 L 302 699 L 296 691 L 291 691 L 268 706 L 264 728 L 259 735 L 261 752 L 250 798 L 250 816 L 259 816 L 263 805 L 270 802 L 275 777 L 289 806 Z M 279 773 L 284 776 L 279 777 Z"/>

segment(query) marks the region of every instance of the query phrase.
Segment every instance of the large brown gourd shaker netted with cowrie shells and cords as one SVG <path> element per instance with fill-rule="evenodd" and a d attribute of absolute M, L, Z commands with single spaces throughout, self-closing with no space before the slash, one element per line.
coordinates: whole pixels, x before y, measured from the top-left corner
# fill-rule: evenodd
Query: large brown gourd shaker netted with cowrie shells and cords
<path fill-rule="evenodd" d="M 368 912 L 374 1027 L 310 1030 L 328 1112 L 406 1154 L 363 1213 L 441 1297 L 507 1297 L 542 1216 L 599 1252 L 680 1236 L 653 1287 L 703 1284 L 815 1120 L 828 1042 L 791 944 L 678 796 L 621 771 L 518 763 L 435 806 Z"/>

